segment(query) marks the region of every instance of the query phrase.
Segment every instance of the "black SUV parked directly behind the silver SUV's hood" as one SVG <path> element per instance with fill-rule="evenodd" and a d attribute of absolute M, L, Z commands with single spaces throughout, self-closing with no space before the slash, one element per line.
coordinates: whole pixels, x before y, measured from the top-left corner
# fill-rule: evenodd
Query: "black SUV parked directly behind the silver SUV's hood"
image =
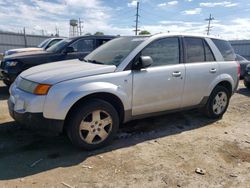
<path fill-rule="evenodd" d="M 91 51 L 113 38 L 114 36 L 105 35 L 67 38 L 46 51 L 5 56 L 0 65 L 0 79 L 9 86 L 22 71 L 30 67 L 68 59 L 83 59 Z"/>

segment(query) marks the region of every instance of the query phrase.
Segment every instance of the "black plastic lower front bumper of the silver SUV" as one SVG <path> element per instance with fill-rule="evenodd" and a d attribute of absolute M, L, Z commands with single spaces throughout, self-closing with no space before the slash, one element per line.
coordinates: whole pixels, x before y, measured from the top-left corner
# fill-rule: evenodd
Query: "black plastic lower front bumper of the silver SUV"
<path fill-rule="evenodd" d="M 8 100 L 8 107 L 10 116 L 27 129 L 58 133 L 63 131 L 63 120 L 47 119 L 43 117 L 42 113 L 16 112 L 14 110 L 14 104 L 10 99 Z"/>

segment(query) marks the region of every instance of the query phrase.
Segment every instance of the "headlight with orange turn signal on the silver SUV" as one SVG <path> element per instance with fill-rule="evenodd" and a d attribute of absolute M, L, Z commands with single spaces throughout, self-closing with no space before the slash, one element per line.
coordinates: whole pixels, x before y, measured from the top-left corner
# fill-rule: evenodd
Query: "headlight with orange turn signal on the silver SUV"
<path fill-rule="evenodd" d="M 36 95 L 47 95 L 51 85 L 49 84 L 39 84 L 26 79 L 21 79 L 17 87 L 23 91 L 33 93 Z"/>

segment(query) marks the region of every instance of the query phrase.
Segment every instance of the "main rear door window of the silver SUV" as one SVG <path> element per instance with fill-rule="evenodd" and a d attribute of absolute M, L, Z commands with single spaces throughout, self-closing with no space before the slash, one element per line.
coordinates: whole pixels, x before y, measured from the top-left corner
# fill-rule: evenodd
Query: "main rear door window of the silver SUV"
<path fill-rule="evenodd" d="M 185 37 L 186 62 L 196 63 L 205 61 L 203 41 L 200 38 Z"/>

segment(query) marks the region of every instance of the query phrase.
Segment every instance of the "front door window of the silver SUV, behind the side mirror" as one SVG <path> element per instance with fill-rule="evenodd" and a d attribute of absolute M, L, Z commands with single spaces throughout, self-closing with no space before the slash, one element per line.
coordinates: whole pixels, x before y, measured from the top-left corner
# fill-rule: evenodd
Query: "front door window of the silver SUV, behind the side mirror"
<path fill-rule="evenodd" d="M 141 55 L 150 56 L 153 59 L 151 66 L 179 64 L 179 39 L 169 37 L 154 41 L 142 50 Z"/>

